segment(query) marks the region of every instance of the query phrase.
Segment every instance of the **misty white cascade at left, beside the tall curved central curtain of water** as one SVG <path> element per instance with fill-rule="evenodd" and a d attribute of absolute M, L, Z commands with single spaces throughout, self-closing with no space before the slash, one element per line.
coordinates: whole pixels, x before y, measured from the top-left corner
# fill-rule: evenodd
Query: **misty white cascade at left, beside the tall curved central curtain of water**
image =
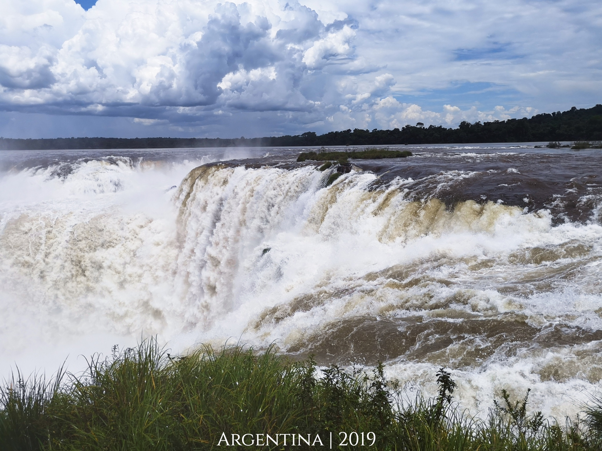
<path fill-rule="evenodd" d="M 203 161 L 105 158 L 0 178 L 2 375 L 70 368 L 165 327 L 177 259 L 170 188 Z M 157 308 L 161 305 L 161 308 Z"/>

